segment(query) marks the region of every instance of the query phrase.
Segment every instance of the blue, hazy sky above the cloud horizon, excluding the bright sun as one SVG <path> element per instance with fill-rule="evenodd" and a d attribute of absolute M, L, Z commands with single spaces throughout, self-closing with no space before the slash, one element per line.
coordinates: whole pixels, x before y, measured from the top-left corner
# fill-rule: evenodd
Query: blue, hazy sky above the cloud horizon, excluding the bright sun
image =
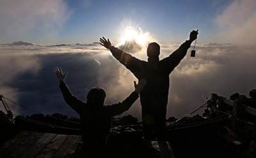
<path fill-rule="evenodd" d="M 150 32 L 163 43 L 183 42 L 192 29 L 199 29 L 202 43 L 252 43 L 255 37 L 253 0 L 1 0 L 0 4 L 0 43 L 92 43 L 101 36 L 116 42 L 127 26 Z"/>

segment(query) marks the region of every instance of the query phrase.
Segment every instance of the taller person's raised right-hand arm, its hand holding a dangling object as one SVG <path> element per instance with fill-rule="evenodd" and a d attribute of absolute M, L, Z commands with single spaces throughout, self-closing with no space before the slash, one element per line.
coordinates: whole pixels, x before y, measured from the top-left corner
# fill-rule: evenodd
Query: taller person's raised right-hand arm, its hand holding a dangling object
<path fill-rule="evenodd" d="M 191 31 L 189 34 L 189 40 L 186 40 L 186 42 L 180 45 L 179 49 L 174 51 L 167 58 L 163 59 L 164 65 L 166 66 L 166 69 L 169 71 L 169 73 L 172 72 L 173 68 L 177 67 L 184 56 L 186 56 L 191 43 L 197 38 L 197 35 L 198 30 Z"/>

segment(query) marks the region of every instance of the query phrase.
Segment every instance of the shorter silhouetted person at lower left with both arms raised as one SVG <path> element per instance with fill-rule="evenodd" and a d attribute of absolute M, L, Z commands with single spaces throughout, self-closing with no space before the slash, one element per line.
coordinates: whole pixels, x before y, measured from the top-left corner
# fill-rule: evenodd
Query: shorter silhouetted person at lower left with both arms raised
<path fill-rule="evenodd" d="M 60 90 L 65 102 L 79 113 L 82 124 L 82 139 L 86 153 L 92 157 L 105 154 L 105 141 L 111 127 L 111 118 L 127 111 L 138 99 L 140 91 L 146 84 L 142 79 L 138 84 L 134 81 L 135 90 L 123 102 L 104 106 L 106 93 L 101 88 L 92 88 L 87 95 L 87 102 L 77 99 L 67 87 L 61 68 L 55 68 L 54 73 L 60 82 Z"/>

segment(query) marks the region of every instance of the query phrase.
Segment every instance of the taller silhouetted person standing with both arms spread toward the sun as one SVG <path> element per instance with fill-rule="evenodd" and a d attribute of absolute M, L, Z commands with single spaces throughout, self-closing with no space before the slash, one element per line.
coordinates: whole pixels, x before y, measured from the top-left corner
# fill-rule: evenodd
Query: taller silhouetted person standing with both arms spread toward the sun
<path fill-rule="evenodd" d="M 111 45 L 109 39 L 100 38 L 100 42 L 102 42 L 100 44 L 109 49 L 113 56 L 128 68 L 139 81 L 141 79 L 147 80 L 147 85 L 140 92 L 143 130 L 146 138 L 152 138 L 152 131 L 155 130 L 157 139 L 164 140 L 169 75 L 179 65 L 181 59 L 184 58 L 197 35 L 198 31 L 191 31 L 189 40 L 182 43 L 179 49 L 170 54 L 170 56 L 160 61 L 160 46 L 156 42 L 148 44 L 148 61 L 142 61 Z"/>

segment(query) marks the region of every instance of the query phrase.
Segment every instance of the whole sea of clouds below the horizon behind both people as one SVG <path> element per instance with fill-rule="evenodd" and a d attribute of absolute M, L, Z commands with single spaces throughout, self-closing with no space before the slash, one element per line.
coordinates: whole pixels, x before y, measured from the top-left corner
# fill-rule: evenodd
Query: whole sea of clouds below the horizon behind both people
<path fill-rule="evenodd" d="M 90 88 L 99 86 L 107 93 L 106 104 L 122 102 L 134 90 L 133 81 L 137 81 L 101 45 L 0 47 L 4 74 L 0 77 L 0 93 L 45 114 L 78 116 L 63 100 L 54 67 L 68 72 L 66 82 L 70 90 L 84 101 Z M 163 45 L 160 58 L 169 56 L 178 47 Z M 229 97 L 239 92 L 248 96 L 256 87 L 255 49 L 253 45 L 205 43 L 196 47 L 195 58 L 189 56 L 189 50 L 170 75 L 167 117 L 190 113 L 205 102 L 202 95 L 210 97 L 211 93 L 217 93 Z M 11 108 L 20 115 L 31 114 L 14 105 Z M 139 100 L 124 115 L 127 114 L 141 119 Z"/>

